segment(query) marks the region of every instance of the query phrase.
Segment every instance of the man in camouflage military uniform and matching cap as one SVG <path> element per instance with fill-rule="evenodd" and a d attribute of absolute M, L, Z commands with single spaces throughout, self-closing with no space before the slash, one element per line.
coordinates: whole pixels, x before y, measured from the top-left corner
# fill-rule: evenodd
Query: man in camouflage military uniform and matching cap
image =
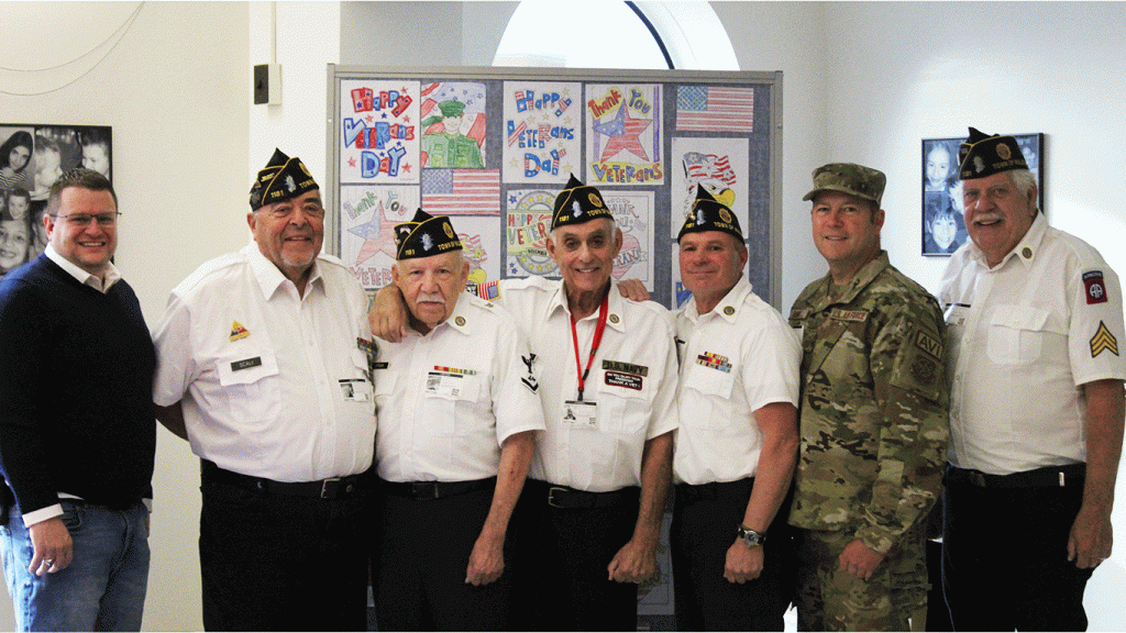
<path fill-rule="evenodd" d="M 948 440 L 938 302 L 879 247 L 882 172 L 813 172 L 813 240 L 829 275 L 790 311 L 802 335 L 799 631 L 922 630 L 923 526 Z"/>

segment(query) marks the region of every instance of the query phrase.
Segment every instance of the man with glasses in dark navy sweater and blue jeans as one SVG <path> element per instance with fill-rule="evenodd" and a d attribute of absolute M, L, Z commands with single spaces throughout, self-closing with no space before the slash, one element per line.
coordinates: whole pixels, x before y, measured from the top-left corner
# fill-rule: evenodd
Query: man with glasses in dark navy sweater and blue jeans
<path fill-rule="evenodd" d="M 110 262 L 117 215 L 105 176 L 64 173 L 46 250 L 0 280 L 0 471 L 15 492 L 0 554 L 20 631 L 141 628 L 155 351 Z"/>

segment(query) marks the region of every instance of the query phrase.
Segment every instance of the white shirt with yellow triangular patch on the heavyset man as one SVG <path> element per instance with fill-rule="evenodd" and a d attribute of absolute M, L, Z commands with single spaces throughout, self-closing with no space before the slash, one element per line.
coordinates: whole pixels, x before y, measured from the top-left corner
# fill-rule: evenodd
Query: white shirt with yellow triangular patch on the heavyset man
<path fill-rule="evenodd" d="M 157 327 L 153 400 L 182 401 L 191 451 L 275 481 L 372 465 L 375 402 L 367 295 L 336 258 L 304 296 L 250 243 L 177 286 Z"/>

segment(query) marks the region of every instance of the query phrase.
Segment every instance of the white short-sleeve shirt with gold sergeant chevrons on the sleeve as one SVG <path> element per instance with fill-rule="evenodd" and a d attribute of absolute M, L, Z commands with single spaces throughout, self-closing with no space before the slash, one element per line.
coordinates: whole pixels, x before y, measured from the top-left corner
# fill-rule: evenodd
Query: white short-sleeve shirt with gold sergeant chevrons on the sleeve
<path fill-rule="evenodd" d="M 1126 378 L 1118 276 L 1038 214 L 990 268 L 967 242 L 939 301 L 950 374 L 950 463 L 991 474 L 1084 462 L 1080 385 Z"/>

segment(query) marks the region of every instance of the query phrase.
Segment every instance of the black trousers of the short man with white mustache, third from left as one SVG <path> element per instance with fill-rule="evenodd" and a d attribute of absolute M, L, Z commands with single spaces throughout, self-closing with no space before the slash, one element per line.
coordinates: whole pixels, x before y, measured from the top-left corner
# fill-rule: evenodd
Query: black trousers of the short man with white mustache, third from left
<path fill-rule="evenodd" d="M 481 587 L 465 582 L 494 488 L 495 480 L 471 492 L 421 500 L 379 493 L 373 585 L 381 631 L 509 627 L 511 547 L 506 547 L 506 569 L 498 580 Z"/>

